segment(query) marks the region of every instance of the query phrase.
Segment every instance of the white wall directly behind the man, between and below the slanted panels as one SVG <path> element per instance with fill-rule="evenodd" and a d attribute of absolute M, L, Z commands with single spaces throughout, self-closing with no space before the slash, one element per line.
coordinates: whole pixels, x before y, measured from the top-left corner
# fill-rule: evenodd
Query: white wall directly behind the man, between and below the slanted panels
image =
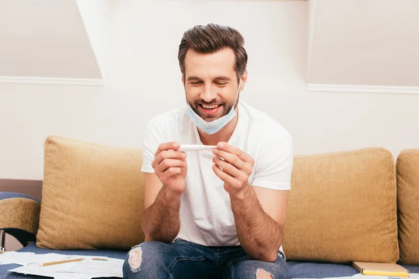
<path fill-rule="evenodd" d="M 0 179 L 42 179 L 47 135 L 140 147 L 152 116 L 184 105 L 177 47 L 207 22 L 242 32 L 241 98 L 291 132 L 295 153 L 419 148 L 419 95 L 307 92 L 307 1 L 78 3 L 105 86 L 0 84 Z"/>

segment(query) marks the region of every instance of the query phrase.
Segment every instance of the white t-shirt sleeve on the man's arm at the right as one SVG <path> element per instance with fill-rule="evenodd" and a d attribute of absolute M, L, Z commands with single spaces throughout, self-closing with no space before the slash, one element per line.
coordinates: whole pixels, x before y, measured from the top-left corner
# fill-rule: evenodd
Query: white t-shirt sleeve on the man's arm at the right
<path fill-rule="evenodd" d="M 291 189 L 293 172 L 293 140 L 291 135 L 270 137 L 260 145 L 255 159 L 255 176 L 252 186 L 274 190 Z"/>

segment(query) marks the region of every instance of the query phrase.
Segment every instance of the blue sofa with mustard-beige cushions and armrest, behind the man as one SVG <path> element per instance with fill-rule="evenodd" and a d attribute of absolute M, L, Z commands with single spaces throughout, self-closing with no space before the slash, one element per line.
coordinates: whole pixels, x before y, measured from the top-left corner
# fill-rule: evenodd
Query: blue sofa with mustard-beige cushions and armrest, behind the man
<path fill-rule="evenodd" d="M 50 136 L 42 202 L 1 192 L 0 229 L 22 252 L 124 259 L 144 241 L 142 151 Z M 353 261 L 419 273 L 419 149 L 395 161 L 383 148 L 295 156 L 284 229 L 293 278 L 358 273 Z M 0 278 L 39 278 L 6 272 Z"/>

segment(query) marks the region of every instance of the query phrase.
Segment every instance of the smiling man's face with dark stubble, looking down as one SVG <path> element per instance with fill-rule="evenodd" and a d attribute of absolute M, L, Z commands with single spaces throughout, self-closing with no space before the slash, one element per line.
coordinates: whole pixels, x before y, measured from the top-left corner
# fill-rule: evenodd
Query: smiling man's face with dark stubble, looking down
<path fill-rule="evenodd" d="M 228 114 L 235 104 L 238 83 L 234 66 L 235 54 L 230 48 L 212 54 L 186 53 L 185 79 L 182 77 L 186 99 L 205 121 Z"/>

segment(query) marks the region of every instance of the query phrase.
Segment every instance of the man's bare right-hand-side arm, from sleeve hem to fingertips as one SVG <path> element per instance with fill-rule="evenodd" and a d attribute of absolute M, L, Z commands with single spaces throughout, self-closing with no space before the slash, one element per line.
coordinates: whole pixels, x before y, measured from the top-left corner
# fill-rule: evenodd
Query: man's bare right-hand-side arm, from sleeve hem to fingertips
<path fill-rule="evenodd" d="M 240 149 L 221 142 L 214 154 L 213 170 L 230 195 L 237 237 L 243 249 L 253 259 L 274 262 L 282 244 L 288 191 L 256 186 L 252 189 L 249 176 L 254 160 Z M 289 160 L 285 163 L 289 172 L 286 180 L 291 179 L 290 163 Z"/>

